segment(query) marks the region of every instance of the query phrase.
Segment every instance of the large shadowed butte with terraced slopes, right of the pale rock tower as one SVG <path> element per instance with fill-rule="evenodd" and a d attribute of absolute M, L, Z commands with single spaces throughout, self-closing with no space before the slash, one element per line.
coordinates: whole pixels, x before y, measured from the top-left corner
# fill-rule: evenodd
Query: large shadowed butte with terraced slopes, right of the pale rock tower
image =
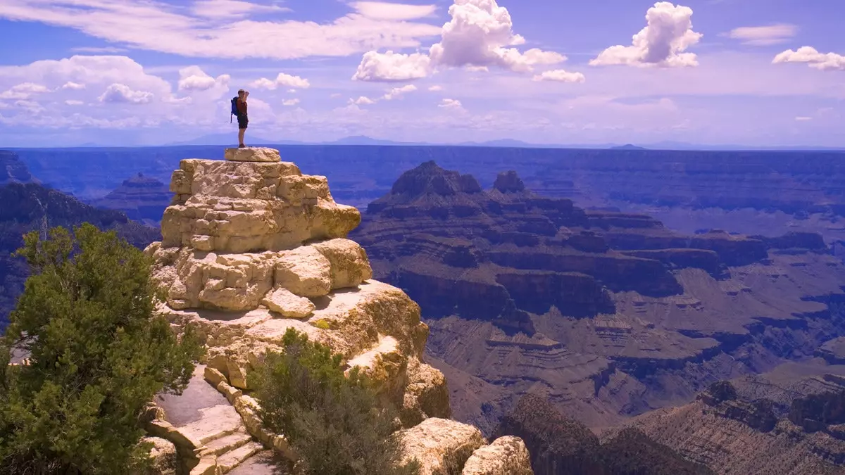
<path fill-rule="evenodd" d="M 812 234 L 681 235 L 649 216 L 582 210 L 515 172 L 478 190 L 428 162 L 351 238 L 423 308 L 455 416 L 485 431 L 542 390 L 591 427 L 695 398 L 715 379 L 812 356 L 845 334 L 845 268 Z"/>

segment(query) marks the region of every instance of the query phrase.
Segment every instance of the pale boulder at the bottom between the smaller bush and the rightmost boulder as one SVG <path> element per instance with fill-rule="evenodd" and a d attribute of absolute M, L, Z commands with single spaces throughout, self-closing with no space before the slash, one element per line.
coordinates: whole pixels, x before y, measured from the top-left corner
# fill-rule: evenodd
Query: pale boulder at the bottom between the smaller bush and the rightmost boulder
<path fill-rule="evenodd" d="M 486 441 L 477 428 L 449 419 L 428 418 L 398 434 L 404 446 L 403 462 L 420 462 L 419 475 L 454 473 Z"/>

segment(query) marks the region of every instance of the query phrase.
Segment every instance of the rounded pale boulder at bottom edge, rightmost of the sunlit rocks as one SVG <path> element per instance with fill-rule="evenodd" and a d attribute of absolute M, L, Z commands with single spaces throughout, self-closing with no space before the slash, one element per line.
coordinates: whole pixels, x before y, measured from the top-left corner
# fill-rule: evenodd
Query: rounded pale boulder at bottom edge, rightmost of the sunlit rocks
<path fill-rule="evenodd" d="M 461 475 L 534 475 L 525 443 L 505 435 L 474 452 Z"/>

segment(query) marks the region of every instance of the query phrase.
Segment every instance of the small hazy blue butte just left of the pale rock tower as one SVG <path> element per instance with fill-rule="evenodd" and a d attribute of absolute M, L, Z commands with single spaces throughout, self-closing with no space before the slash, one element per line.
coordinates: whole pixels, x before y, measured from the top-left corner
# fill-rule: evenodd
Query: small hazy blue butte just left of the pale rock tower
<path fill-rule="evenodd" d="M 130 219 L 158 223 L 173 198 L 166 184 L 138 173 L 124 180 L 111 193 L 91 204 L 106 210 L 119 210 Z"/>

